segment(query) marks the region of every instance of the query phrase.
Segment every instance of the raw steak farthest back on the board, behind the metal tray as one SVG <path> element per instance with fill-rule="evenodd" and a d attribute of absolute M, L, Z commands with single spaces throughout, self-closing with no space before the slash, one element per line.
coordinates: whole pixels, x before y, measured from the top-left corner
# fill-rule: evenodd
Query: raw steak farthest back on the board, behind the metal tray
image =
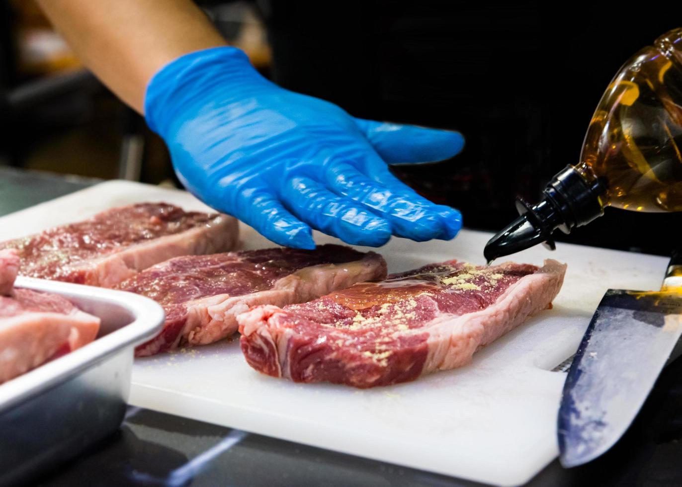
<path fill-rule="evenodd" d="M 140 203 L 0 243 L 0 248 L 18 250 L 22 276 L 111 287 L 171 257 L 222 252 L 236 241 L 237 220 L 231 216 Z"/>

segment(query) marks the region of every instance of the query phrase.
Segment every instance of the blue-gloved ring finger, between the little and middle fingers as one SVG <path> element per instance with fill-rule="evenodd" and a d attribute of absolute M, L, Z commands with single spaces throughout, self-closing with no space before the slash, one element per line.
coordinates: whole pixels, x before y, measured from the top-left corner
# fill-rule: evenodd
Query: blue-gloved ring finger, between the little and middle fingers
<path fill-rule="evenodd" d="M 391 238 L 389 222 L 309 177 L 292 178 L 282 196 L 301 220 L 351 245 L 379 247 Z"/>

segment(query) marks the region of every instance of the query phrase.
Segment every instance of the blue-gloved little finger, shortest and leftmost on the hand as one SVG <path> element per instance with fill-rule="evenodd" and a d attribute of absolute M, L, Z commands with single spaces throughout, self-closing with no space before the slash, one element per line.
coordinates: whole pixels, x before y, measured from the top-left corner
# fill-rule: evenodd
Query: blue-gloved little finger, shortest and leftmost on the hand
<path fill-rule="evenodd" d="M 273 194 L 261 190 L 243 203 L 236 216 L 267 239 L 286 247 L 315 248 L 310 226 L 289 213 Z"/>

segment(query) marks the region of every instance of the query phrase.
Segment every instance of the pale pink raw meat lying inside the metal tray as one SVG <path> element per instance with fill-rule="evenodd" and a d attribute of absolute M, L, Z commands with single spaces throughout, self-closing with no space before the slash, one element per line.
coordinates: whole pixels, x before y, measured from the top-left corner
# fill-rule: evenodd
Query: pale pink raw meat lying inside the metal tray
<path fill-rule="evenodd" d="M 100 319 L 57 295 L 12 289 L 19 259 L 0 250 L 0 384 L 97 336 Z"/>

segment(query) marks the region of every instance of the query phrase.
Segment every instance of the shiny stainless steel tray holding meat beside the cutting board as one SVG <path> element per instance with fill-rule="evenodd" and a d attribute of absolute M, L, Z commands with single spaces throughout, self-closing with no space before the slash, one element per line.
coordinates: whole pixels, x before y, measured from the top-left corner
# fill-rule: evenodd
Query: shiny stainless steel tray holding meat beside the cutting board
<path fill-rule="evenodd" d="M 160 331 L 161 306 L 132 293 L 17 278 L 102 320 L 98 338 L 0 385 L 0 486 L 25 482 L 114 432 L 125 414 L 134 347 Z"/>

